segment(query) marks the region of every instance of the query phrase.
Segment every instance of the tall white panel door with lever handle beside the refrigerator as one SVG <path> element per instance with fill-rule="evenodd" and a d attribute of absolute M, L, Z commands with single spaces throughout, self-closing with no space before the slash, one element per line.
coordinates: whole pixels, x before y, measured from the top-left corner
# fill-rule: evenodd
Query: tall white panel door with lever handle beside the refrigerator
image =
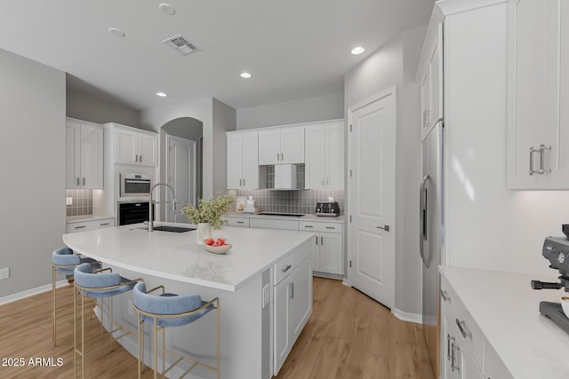
<path fill-rule="evenodd" d="M 395 303 L 395 96 L 391 89 L 349 111 L 349 280 L 389 308 Z"/>

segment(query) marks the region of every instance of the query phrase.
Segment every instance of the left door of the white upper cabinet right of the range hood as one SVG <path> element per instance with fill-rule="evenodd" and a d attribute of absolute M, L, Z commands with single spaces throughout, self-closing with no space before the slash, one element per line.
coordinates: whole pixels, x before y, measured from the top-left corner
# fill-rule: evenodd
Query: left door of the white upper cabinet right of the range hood
<path fill-rule="evenodd" d="M 325 184 L 325 127 L 311 125 L 304 129 L 305 166 L 304 187 L 324 188 Z"/>

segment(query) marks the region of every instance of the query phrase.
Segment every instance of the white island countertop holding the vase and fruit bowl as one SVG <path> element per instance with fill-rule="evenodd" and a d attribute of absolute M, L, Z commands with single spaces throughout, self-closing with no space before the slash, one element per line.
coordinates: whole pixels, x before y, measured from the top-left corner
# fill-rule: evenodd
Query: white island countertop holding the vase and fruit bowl
<path fill-rule="evenodd" d="M 306 232 L 225 226 L 220 231 L 214 230 L 212 237 L 225 238 L 233 248 L 219 255 L 196 244 L 196 231 L 148 233 L 143 227 L 136 224 L 68 233 L 63 234 L 63 242 L 76 252 L 108 265 L 235 291 L 314 236 Z"/>

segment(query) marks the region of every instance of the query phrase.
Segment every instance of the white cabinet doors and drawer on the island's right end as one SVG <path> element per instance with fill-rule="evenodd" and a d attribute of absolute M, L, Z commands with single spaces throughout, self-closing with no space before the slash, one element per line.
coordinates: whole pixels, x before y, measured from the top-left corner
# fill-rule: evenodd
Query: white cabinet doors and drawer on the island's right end
<path fill-rule="evenodd" d="M 275 265 L 275 329 L 274 329 L 274 375 L 277 375 L 293 344 L 312 313 L 312 270 L 306 254 L 294 267 L 298 258 Z M 286 259 L 286 258 L 285 258 Z M 283 277 L 284 275 L 284 277 Z M 277 281 L 279 280 L 280 281 Z"/>

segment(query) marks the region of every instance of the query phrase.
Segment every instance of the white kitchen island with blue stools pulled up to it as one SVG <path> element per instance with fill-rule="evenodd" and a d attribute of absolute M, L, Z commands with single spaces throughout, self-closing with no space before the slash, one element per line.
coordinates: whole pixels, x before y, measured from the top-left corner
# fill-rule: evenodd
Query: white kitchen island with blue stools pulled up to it
<path fill-rule="evenodd" d="M 224 237 L 233 248 L 225 255 L 212 254 L 196 244 L 195 231 L 148 233 L 143 225 L 64 234 L 63 242 L 124 277 L 142 278 L 147 288 L 164 285 L 168 292 L 197 293 L 206 301 L 220 297 L 221 377 L 270 378 L 274 371 L 274 346 L 278 346 L 276 340 L 280 339 L 277 335 L 282 335 L 276 333 L 281 326 L 275 326 L 275 320 L 280 312 L 287 312 L 276 309 L 276 281 L 283 280 L 283 272 L 297 277 L 301 269 L 307 271 L 301 277 L 311 276 L 309 257 L 314 234 L 226 226 L 213 231 L 213 237 Z M 297 294 L 302 291 L 299 286 L 295 289 Z M 306 299 L 308 306 L 302 313 L 301 328 L 312 310 L 311 281 L 304 292 L 304 296 L 296 296 Z M 117 300 L 113 317 L 136 330 L 132 293 Z M 214 319 L 206 316 L 183 328 L 171 328 L 166 343 L 174 350 L 191 352 L 190 356 L 213 363 Z M 136 356 L 138 348 L 134 339 L 124 339 L 122 344 Z M 147 364 L 150 355 L 147 349 Z M 214 377 L 214 373 L 198 368 L 192 374 L 190 377 Z"/>

